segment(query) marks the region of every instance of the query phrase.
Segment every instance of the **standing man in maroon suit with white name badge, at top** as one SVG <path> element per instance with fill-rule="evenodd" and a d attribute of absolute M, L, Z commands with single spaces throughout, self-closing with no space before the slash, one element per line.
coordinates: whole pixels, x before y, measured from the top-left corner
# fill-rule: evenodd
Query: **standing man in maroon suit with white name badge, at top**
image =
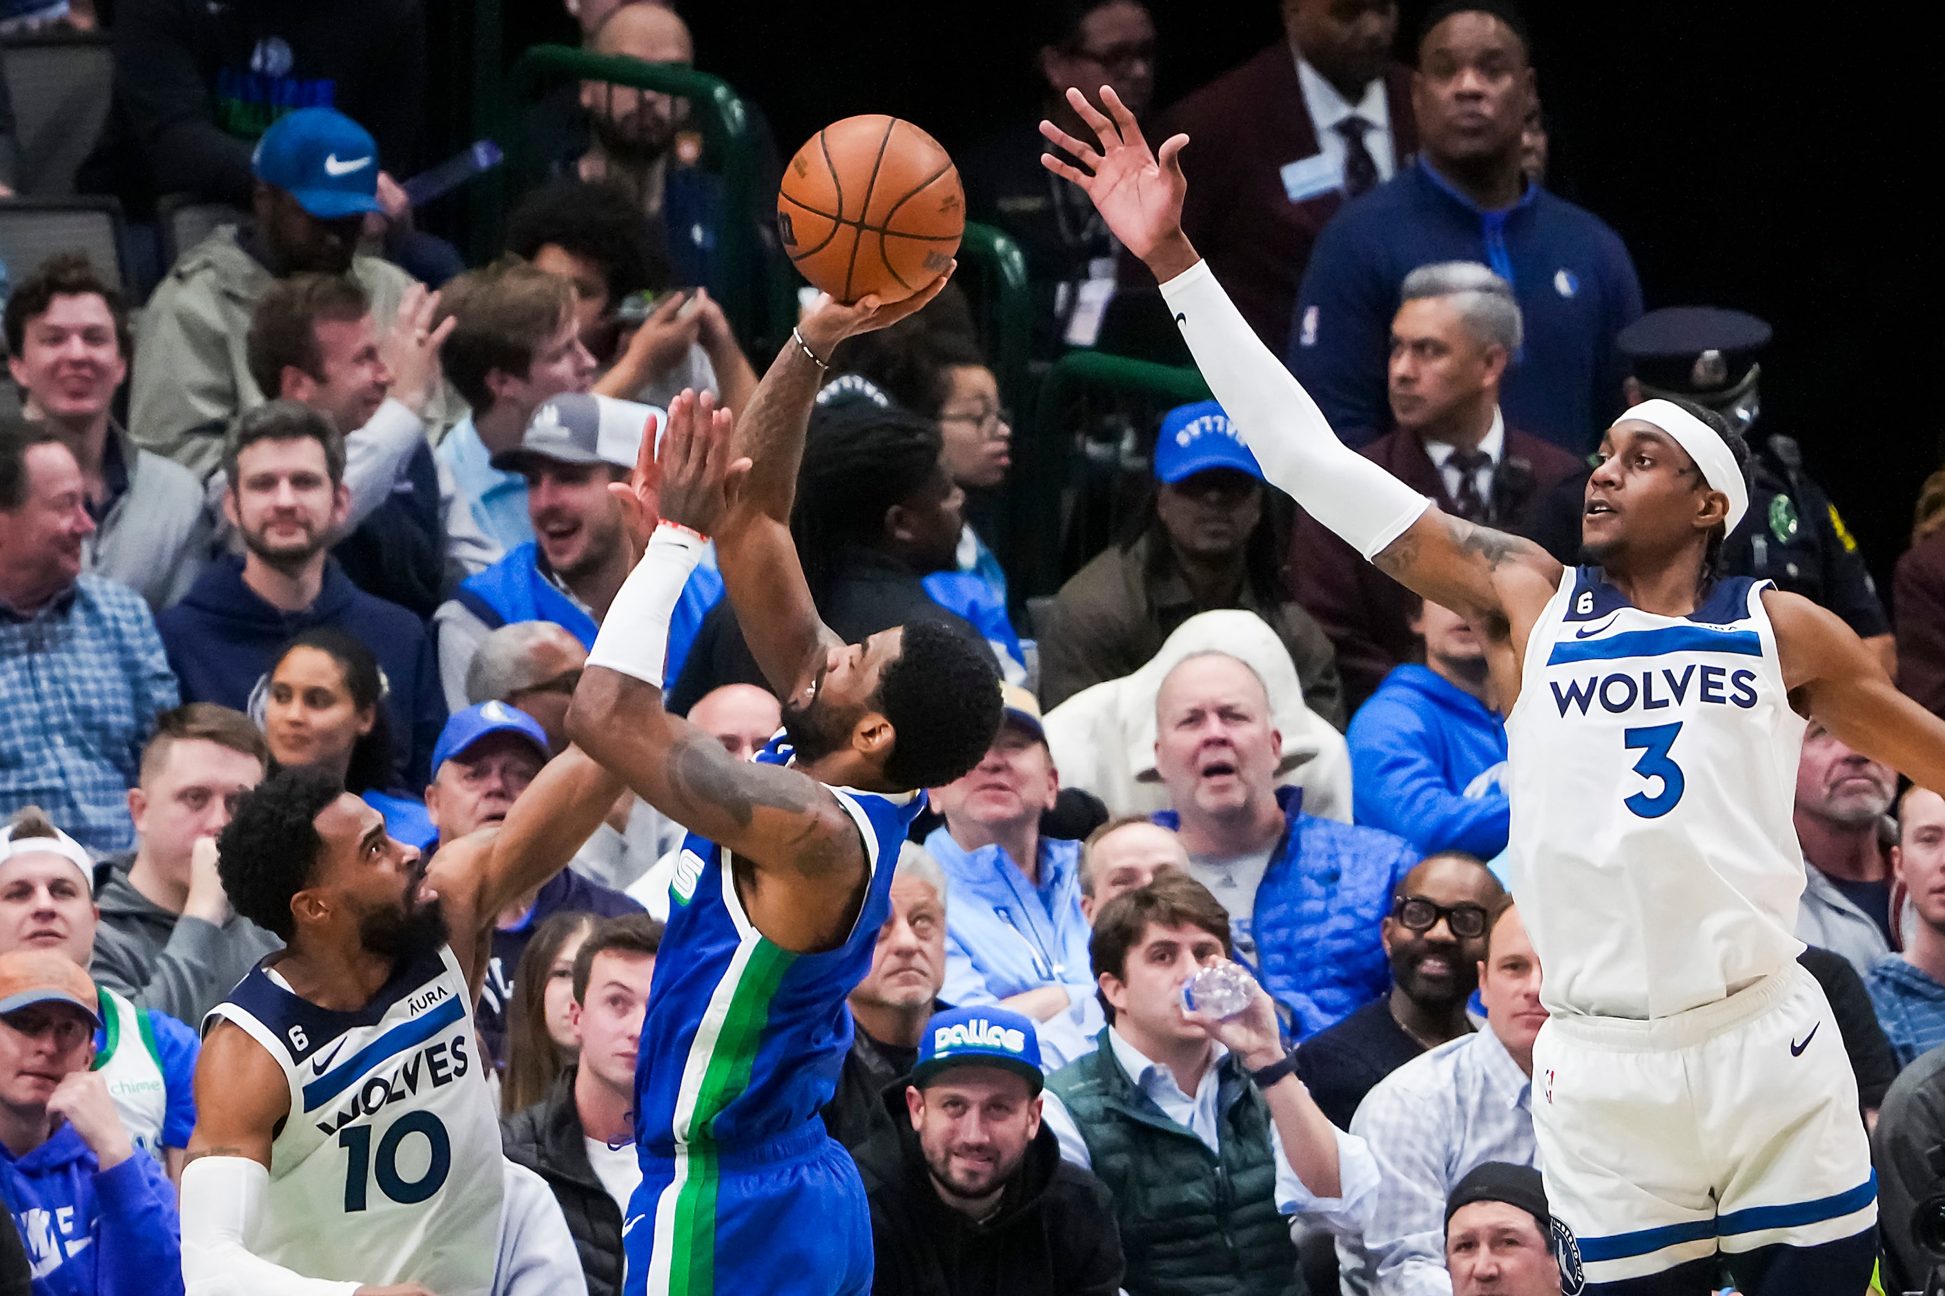
<path fill-rule="evenodd" d="M 1284 354 L 1311 243 L 1418 148 L 1412 70 L 1389 58 L 1397 0 L 1282 0 L 1286 39 L 1177 103 L 1183 230 L 1256 335 Z"/>

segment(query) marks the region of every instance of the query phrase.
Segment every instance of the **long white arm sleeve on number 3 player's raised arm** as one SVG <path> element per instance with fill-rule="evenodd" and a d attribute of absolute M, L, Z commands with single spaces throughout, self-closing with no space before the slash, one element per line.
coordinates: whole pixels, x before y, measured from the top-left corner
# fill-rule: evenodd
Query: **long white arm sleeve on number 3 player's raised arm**
<path fill-rule="evenodd" d="M 1249 444 L 1262 475 L 1371 558 L 1432 502 L 1336 438 L 1284 362 L 1198 261 L 1161 286 L 1196 368 Z"/>

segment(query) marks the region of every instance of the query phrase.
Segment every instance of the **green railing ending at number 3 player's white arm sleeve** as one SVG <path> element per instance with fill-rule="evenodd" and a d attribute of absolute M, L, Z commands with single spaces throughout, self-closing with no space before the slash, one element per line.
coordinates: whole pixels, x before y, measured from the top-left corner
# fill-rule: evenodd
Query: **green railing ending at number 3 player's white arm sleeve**
<path fill-rule="evenodd" d="M 1009 551 L 1021 597 L 1060 588 L 1062 498 L 1074 479 L 1076 418 L 1089 395 L 1132 397 L 1161 407 L 1208 401 L 1210 389 L 1194 368 L 1105 356 L 1093 350 L 1066 354 L 1041 379 L 1033 418 L 1019 442 L 1013 467 Z"/>

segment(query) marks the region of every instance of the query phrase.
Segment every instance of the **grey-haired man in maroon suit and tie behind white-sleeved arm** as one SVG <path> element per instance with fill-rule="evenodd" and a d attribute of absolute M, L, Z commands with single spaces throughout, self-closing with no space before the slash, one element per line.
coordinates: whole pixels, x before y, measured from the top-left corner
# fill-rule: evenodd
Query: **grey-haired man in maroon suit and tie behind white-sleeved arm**
<path fill-rule="evenodd" d="M 1476 261 L 1447 261 L 1412 270 L 1400 296 L 1391 321 L 1395 428 L 1363 455 L 1449 514 L 1519 531 L 1533 500 L 1581 465 L 1500 414 L 1500 379 L 1523 333 L 1513 288 Z M 1412 660 L 1418 597 L 1309 516 L 1290 541 L 1290 578 L 1336 646 L 1356 710 Z"/>

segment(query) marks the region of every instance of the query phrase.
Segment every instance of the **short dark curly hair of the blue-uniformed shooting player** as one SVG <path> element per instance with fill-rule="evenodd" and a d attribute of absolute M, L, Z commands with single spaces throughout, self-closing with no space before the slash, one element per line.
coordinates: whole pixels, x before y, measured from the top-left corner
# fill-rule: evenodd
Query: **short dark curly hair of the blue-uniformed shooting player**
<path fill-rule="evenodd" d="M 885 778 L 939 788 L 980 763 L 1000 732 L 1000 671 L 992 650 L 939 621 L 908 621 L 899 658 L 877 681 L 891 720 Z"/>

